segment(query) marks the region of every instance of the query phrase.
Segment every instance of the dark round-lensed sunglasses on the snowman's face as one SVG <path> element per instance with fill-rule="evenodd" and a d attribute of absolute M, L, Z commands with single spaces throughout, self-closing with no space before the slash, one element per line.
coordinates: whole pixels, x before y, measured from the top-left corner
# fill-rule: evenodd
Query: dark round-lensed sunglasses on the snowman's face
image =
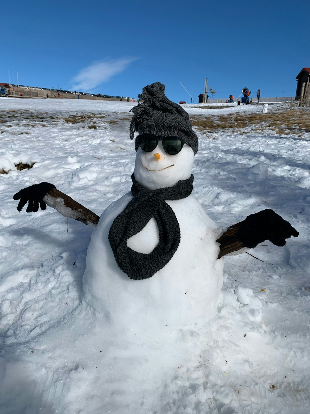
<path fill-rule="evenodd" d="M 152 152 L 157 147 L 158 142 L 162 141 L 162 147 L 169 155 L 179 154 L 183 145 L 186 144 L 184 140 L 179 137 L 157 137 L 153 134 L 141 134 L 137 137 L 139 139 L 140 147 L 145 152 Z"/>

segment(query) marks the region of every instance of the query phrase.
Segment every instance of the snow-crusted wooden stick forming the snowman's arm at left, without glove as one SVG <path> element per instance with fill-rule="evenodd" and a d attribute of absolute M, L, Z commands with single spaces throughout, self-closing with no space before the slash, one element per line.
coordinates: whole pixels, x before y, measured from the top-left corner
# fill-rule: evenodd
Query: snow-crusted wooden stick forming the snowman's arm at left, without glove
<path fill-rule="evenodd" d="M 55 208 L 62 216 L 81 221 L 88 226 L 97 226 L 99 216 L 82 206 L 69 195 L 53 188 L 44 197 L 43 201 L 50 207 Z"/>

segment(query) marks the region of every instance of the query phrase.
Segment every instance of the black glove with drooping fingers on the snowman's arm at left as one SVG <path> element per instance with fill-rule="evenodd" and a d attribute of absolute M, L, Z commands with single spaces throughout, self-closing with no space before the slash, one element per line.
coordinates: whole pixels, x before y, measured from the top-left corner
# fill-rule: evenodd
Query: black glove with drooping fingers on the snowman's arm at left
<path fill-rule="evenodd" d="M 27 202 L 27 213 L 38 211 L 39 203 L 41 210 L 45 210 L 46 204 L 43 201 L 43 197 L 53 188 L 56 188 L 55 185 L 50 183 L 33 184 L 30 187 L 23 188 L 18 193 L 13 195 L 14 200 L 20 199 L 17 210 L 21 212 L 21 209 L 27 204 Z"/>

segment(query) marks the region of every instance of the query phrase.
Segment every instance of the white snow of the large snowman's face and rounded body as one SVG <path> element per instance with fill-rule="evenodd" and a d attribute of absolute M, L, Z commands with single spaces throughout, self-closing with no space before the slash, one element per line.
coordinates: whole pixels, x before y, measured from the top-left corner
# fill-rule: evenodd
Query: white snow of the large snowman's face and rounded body
<path fill-rule="evenodd" d="M 154 153 L 160 154 L 159 160 Z M 145 188 L 154 190 L 190 177 L 192 166 L 190 147 L 184 145 L 179 154 L 171 156 L 159 143 L 151 153 L 138 149 L 134 175 Z M 223 282 L 223 261 L 217 260 L 219 245 L 215 242 L 219 233 L 214 221 L 192 195 L 166 201 L 179 222 L 179 247 L 152 277 L 133 280 L 117 266 L 108 241 L 113 220 L 132 197 L 128 193 L 107 207 L 93 232 L 83 277 L 86 301 L 112 324 L 133 330 L 154 328 L 156 324 L 174 329 L 210 319 L 216 312 Z M 151 219 L 127 240 L 127 246 L 147 254 L 158 241 L 157 224 Z"/>

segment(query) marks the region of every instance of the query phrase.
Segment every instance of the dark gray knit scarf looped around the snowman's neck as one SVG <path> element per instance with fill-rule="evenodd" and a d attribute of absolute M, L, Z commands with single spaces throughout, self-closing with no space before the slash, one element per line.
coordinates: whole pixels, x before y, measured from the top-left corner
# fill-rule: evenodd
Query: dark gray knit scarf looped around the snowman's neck
<path fill-rule="evenodd" d="M 148 279 L 171 260 L 179 247 L 180 226 L 174 211 L 165 200 L 181 200 L 193 190 L 193 175 L 173 187 L 147 190 L 131 176 L 134 198 L 113 221 L 109 243 L 118 267 L 131 279 Z M 149 253 L 138 253 L 127 246 L 127 240 L 139 233 L 154 217 L 159 230 L 159 243 Z"/>

